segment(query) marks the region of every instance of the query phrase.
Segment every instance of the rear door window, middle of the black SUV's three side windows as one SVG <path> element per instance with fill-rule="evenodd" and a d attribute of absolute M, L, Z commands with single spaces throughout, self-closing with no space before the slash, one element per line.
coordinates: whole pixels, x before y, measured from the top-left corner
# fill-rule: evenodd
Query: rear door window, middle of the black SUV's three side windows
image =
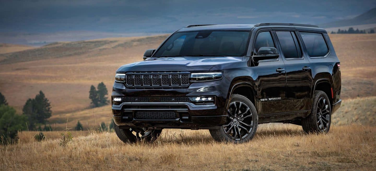
<path fill-rule="evenodd" d="M 286 59 L 302 58 L 302 50 L 294 32 L 276 32 L 282 53 Z"/>

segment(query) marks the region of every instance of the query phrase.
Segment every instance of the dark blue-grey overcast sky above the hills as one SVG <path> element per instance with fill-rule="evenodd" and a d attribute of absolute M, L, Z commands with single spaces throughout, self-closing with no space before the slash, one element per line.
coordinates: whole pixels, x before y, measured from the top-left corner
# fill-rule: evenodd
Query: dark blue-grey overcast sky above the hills
<path fill-rule="evenodd" d="M 1 0 L 0 32 L 172 32 L 188 24 L 320 24 L 376 7 L 371 0 Z"/>

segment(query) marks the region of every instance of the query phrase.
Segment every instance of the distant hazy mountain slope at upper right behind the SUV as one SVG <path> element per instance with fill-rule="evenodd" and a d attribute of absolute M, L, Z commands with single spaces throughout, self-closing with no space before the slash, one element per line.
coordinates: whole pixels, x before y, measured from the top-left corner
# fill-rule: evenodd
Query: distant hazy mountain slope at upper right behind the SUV
<path fill-rule="evenodd" d="M 319 24 L 319 26 L 322 28 L 331 28 L 331 27 L 355 26 L 355 25 L 364 25 L 364 24 L 376 24 L 376 8 L 373 8 L 370 11 L 367 11 L 364 14 L 358 15 L 357 17 L 354 17 L 352 19 Z"/>

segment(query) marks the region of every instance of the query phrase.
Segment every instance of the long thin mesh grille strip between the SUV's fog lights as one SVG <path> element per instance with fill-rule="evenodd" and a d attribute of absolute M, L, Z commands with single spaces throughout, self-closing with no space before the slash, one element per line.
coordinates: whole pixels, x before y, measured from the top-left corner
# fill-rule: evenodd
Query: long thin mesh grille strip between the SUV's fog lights
<path fill-rule="evenodd" d="M 191 102 L 189 97 L 124 97 L 123 102 Z"/>

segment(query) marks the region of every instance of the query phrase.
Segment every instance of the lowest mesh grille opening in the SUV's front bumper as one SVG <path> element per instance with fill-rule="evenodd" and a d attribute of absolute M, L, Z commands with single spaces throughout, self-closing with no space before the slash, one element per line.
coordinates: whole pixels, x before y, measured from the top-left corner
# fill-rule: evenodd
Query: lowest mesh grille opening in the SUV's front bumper
<path fill-rule="evenodd" d="M 171 120 L 177 117 L 174 111 L 137 111 L 135 118 L 142 120 Z"/>

